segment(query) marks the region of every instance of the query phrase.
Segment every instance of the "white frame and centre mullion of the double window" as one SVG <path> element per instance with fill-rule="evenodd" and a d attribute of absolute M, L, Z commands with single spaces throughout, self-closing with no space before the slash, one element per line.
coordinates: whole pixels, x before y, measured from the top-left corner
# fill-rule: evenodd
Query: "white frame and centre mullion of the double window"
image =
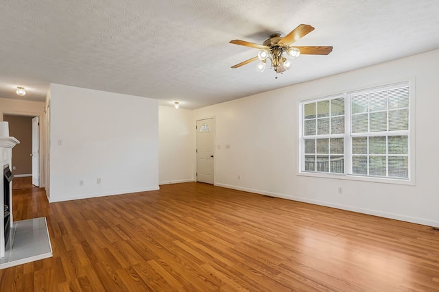
<path fill-rule="evenodd" d="M 408 130 L 407 131 L 385 131 L 385 132 L 368 132 L 366 133 L 355 133 L 351 134 L 351 125 L 352 125 L 352 114 L 351 114 L 351 98 L 352 95 L 357 93 L 366 93 L 366 92 L 376 92 L 379 90 L 385 90 L 388 88 L 396 88 L 399 86 L 408 86 L 408 94 L 409 94 L 409 116 L 408 116 Z M 368 88 L 361 88 L 357 90 L 346 90 L 344 93 L 337 93 L 334 95 L 321 96 L 321 97 L 312 97 L 308 99 L 300 99 L 298 100 L 298 169 L 297 175 L 302 176 L 311 176 L 317 178 L 333 178 L 333 179 L 342 179 L 342 180 L 359 180 L 365 182 L 383 182 L 390 184 L 416 184 L 416 164 L 415 164 L 415 135 L 414 135 L 414 78 L 408 80 L 401 80 L 399 82 L 392 82 L 388 84 L 381 84 L 379 86 L 370 86 Z M 344 173 L 329 173 L 329 172 L 316 172 L 316 171 L 305 171 L 305 138 L 304 138 L 304 105 L 312 102 L 324 101 L 327 99 L 334 99 L 344 97 Z M 387 109 L 389 112 L 390 109 Z M 317 113 L 316 113 L 317 119 Z M 381 176 L 372 176 L 372 175 L 359 175 L 353 174 L 353 151 L 352 151 L 352 141 L 353 137 L 356 136 L 398 136 L 397 134 L 402 134 L 403 136 L 408 136 L 408 178 L 390 178 L 390 177 L 381 177 Z M 324 135 L 319 136 L 317 133 L 315 135 L 316 138 L 332 138 L 327 137 L 331 136 Z M 340 134 L 338 134 L 340 136 Z M 386 138 L 387 141 L 387 138 Z M 387 145 L 387 144 L 386 144 Z M 369 156 L 370 154 L 368 154 Z M 390 156 L 390 154 L 386 154 L 386 156 Z M 386 162 L 388 165 L 388 162 Z"/>

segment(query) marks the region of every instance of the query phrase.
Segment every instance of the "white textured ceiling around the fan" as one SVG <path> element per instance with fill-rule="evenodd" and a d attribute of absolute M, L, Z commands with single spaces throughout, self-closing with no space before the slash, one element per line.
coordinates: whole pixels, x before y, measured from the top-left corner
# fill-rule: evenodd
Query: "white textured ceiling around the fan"
<path fill-rule="evenodd" d="M 3 0 L 0 97 L 43 101 L 58 83 L 200 108 L 439 49 L 438 15 L 438 0 Z M 257 62 L 230 69 L 257 55 L 230 40 L 300 23 L 316 29 L 295 45 L 333 52 L 278 79 Z"/>

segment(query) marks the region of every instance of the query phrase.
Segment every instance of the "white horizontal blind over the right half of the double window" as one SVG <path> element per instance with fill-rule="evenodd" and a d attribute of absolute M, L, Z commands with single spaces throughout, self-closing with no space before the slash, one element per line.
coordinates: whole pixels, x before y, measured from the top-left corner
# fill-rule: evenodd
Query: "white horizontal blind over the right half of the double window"
<path fill-rule="evenodd" d="M 409 86 L 351 94 L 352 174 L 409 176 Z"/>

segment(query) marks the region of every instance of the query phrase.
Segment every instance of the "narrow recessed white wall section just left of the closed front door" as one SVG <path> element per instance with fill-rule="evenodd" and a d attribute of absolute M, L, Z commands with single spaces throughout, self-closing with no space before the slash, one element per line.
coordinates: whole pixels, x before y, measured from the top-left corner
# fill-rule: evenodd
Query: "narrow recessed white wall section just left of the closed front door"
<path fill-rule="evenodd" d="M 195 180 L 193 110 L 158 107 L 159 184 Z"/>

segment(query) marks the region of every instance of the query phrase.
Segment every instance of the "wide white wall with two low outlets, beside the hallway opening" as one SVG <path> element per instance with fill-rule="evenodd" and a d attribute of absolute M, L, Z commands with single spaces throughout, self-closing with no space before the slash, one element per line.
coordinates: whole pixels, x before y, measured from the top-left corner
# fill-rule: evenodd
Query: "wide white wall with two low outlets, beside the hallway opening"
<path fill-rule="evenodd" d="M 156 99 L 51 84 L 49 102 L 49 202 L 158 189 Z"/>

